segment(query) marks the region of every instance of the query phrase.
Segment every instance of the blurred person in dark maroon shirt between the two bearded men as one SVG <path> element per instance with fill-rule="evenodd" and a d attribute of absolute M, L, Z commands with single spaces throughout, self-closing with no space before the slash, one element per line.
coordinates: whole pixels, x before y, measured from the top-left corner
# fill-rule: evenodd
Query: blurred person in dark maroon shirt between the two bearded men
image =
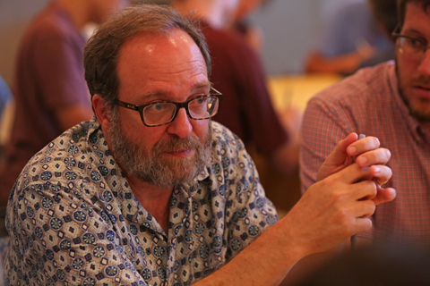
<path fill-rule="evenodd" d="M 252 7 L 258 5 L 254 0 L 251 2 Z M 271 105 L 259 55 L 244 37 L 230 29 L 237 19 L 240 3 L 239 0 L 172 2 L 180 13 L 192 13 L 201 22 L 211 52 L 211 82 L 224 95 L 223 107 L 214 120 L 232 130 L 248 149 L 254 147 L 280 172 L 289 174 L 298 164 L 296 135 L 301 114 L 292 109 L 277 114 Z"/>

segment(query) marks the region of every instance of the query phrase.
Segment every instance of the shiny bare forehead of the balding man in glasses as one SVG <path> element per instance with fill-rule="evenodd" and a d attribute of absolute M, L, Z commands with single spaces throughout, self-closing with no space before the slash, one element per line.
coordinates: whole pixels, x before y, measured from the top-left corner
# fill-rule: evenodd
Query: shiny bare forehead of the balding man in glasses
<path fill-rule="evenodd" d="M 127 40 L 119 53 L 117 72 L 120 91 L 131 86 L 171 88 L 207 80 L 202 53 L 182 29 L 139 34 Z"/>

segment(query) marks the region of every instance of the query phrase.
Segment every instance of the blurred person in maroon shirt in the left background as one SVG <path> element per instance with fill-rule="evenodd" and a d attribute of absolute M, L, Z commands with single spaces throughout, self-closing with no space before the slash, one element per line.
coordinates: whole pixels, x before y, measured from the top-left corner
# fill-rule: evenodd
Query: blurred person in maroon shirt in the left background
<path fill-rule="evenodd" d="M 17 55 L 11 138 L 0 166 L 0 206 L 22 168 L 64 130 L 92 116 L 83 77 L 85 24 L 100 22 L 129 0 L 56 0 L 30 23 Z"/>

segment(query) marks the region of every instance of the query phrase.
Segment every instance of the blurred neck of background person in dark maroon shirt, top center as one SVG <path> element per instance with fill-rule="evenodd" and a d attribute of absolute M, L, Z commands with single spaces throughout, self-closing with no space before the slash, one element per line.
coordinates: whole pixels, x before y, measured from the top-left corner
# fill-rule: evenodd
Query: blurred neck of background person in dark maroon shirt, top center
<path fill-rule="evenodd" d="M 214 29 L 222 29 L 227 26 L 225 13 L 216 1 L 209 0 L 174 0 L 175 9 L 184 15 L 193 13 L 194 19 L 205 21 Z"/>

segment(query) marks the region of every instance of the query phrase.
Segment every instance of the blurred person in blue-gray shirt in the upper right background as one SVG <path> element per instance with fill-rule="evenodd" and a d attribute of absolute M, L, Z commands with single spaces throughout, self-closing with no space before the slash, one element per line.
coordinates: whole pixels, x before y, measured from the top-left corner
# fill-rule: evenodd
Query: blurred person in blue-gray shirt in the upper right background
<path fill-rule="evenodd" d="M 342 75 L 394 58 L 391 32 L 397 24 L 396 0 L 366 0 L 342 5 L 308 55 L 306 72 Z"/>

